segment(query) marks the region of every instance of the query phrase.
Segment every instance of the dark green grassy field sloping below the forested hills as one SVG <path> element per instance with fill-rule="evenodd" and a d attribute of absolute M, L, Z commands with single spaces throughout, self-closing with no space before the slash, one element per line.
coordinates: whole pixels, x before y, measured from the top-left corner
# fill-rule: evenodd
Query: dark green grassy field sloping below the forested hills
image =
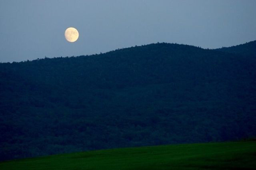
<path fill-rule="evenodd" d="M 120 148 L 0 162 L 0 170 L 176 169 L 256 169 L 256 141 Z"/>

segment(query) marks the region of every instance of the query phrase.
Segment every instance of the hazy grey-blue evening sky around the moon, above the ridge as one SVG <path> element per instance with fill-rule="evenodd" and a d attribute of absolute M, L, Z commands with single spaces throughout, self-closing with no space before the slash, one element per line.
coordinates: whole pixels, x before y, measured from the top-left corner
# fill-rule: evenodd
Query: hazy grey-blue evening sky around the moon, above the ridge
<path fill-rule="evenodd" d="M 0 34 L 1 63 L 157 42 L 215 49 L 256 40 L 256 0 L 1 0 Z"/>

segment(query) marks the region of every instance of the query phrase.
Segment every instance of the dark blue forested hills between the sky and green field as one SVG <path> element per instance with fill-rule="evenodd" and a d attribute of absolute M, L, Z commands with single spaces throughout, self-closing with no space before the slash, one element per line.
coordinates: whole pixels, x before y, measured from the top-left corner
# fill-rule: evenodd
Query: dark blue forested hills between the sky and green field
<path fill-rule="evenodd" d="M 0 63 L 0 160 L 255 136 L 256 45 L 246 44 Z"/>

